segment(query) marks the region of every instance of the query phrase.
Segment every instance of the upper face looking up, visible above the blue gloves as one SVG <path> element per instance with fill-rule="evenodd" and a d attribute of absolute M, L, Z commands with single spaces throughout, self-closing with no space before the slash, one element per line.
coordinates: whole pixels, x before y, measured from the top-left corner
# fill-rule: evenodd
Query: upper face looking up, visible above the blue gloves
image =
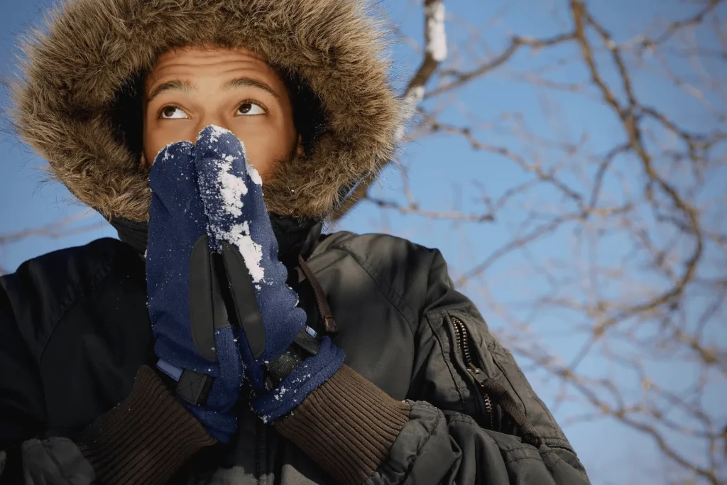
<path fill-rule="evenodd" d="M 204 127 L 229 129 L 265 180 L 296 149 L 292 105 L 281 77 L 246 49 L 188 47 L 166 52 L 144 86 L 144 156 Z"/>

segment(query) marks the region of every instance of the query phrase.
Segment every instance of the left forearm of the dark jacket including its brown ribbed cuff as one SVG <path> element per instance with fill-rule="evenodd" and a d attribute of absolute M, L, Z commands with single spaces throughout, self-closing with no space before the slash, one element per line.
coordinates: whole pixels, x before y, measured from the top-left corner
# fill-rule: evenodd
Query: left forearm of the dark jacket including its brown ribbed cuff
<path fill-rule="evenodd" d="M 214 443 L 156 373 L 142 366 L 121 404 L 73 439 L 47 434 L 23 441 L 20 462 L 13 466 L 8 457 L 0 478 L 23 485 L 161 485 Z"/>

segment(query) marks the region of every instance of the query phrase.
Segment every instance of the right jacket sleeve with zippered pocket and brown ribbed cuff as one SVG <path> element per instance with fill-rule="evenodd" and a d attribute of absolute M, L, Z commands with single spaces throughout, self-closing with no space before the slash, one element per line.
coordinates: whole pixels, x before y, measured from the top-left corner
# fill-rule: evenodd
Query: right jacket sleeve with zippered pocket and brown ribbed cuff
<path fill-rule="evenodd" d="M 589 484 L 512 354 L 454 290 L 438 252 L 426 292 L 412 372 L 420 396 L 395 401 L 343 366 L 278 420 L 278 431 L 341 484 Z"/>

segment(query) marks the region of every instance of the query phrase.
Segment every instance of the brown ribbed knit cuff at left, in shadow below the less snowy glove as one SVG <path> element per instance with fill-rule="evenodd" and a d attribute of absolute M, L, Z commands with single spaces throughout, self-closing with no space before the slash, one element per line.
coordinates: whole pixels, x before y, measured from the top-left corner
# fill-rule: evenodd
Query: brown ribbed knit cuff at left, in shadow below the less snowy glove
<path fill-rule="evenodd" d="M 164 484 L 193 454 L 214 444 L 198 420 L 149 366 L 140 367 L 132 393 L 102 414 L 79 441 L 102 484 Z"/>

